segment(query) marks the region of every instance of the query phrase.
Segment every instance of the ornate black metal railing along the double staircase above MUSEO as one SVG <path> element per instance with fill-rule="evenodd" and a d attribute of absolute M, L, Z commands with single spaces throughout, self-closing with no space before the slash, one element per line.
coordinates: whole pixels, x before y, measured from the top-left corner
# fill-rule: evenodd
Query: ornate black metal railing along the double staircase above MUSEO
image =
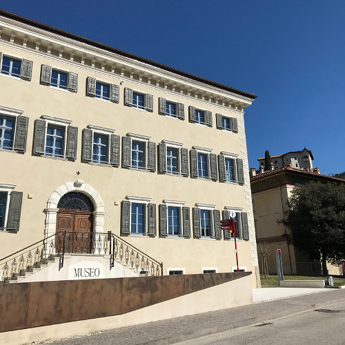
<path fill-rule="evenodd" d="M 132 246 L 121 237 L 111 233 L 77 233 L 60 231 L 16 253 L 0 259 L 0 282 L 16 279 L 34 268 L 59 257 L 59 268 L 63 267 L 65 254 L 110 255 L 110 269 L 115 260 L 133 268 L 140 275 L 163 275 L 163 263 Z"/>

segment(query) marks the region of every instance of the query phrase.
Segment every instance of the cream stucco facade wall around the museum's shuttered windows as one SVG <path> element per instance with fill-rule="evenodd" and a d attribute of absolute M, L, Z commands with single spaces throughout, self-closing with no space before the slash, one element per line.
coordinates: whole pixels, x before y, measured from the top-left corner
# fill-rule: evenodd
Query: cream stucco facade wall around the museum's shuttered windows
<path fill-rule="evenodd" d="M 126 237 L 126 241 L 137 246 L 151 257 L 164 263 L 164 267 L 186 268 L 186 273 L 199 273 L 201 267 L 217 267 L 218 272 L 230 271 L 235 266 L 234 242 L 213 239 L 160 238 L 158 205 L 163 199 L 186 201 L 190 208 L 191 233 L 193 233 L 192 208 L 196 203 L 215 204 L 215 209 L 225 206 L 242 208 L 248 213 L 250 240 L 239 240 L 239 265 L 255 273 L 257 252 L 253 208 L 251 206 L 248 159 L 244 131 L 244 112 L 211 103 L 191 95 L 173 92 L 161 86 L 154 86 L 130 77 L 115 75 L 105 70 L 81 65 L 39 51 L 29 50 L 13 43 L 0 41 L 0 51 L 12 57 L 33 61 L 32 80 L 6 77 L 0 74 L 0 106 L 23 110 L 29 117 L 27 149 L 24 154 L 0 150 L 1 183 L 16 185 L 15 190 L 23 192 L 21 226 L 18 233 L 0 233 L 0 257 L 4 257 L 24 246 L 43 239 L 46 228 L 46 208 L 54 191 L 64 184 L 73 184 L 81 179 L 99 193 L 103 201 L 103 229 L 119 235 L 121 201 L 127 195 L 150 197 L 157 205 L 157 236 Z M 41 64 L 51 65 L 63 71 L 78 74 L 78 92 L 68 92 L 40 85 Z M 115 83 L 120 88 L 119 103 L 110 103 L 86 97 L 86 78 L 95 77 L 106 83 Z M 121 86 L 120 86 L 121 83 Z M 154 97 L 153 112 L 145 112 L 124 106 L 124 88 L 147 92 Z M 205 88 L 207 86 L 205 85 Z M 158 114 L 158 97 L 184 103 L 184 121 Z M 213 114 L 213 128 L 188 122 L 188 106 L 209 110 Z M 236 117 L 239 133 L 217 130 L 215 113 Z M 72 121 L 78 128 L 77 159 L 67 161 L 32 155 L 34 120 L 41 115 L 59 117 Z M 212 148 L 219 155 L 221 151 L 232 152 L 244 160 L 244 186 L 223 184 L 190 177 L 159 175 L 157 172 L 97 166 L 81 163 L 81 131 L 88 124 L 115 128 L 115 134 L 125 136 L 128 132 L 150 136 L 150 141 L 159 144 L 167 139 L 183 143 L 190 150 L 193 146 Z M 121 164 L 120 164 L 121 165 Z M 77 175 L 80 172 L 80 175 Z M 54 224 L 50 224 L 54 227 Z M 257 286 L 255 274 L 251 276 L 253 287 Z"/>

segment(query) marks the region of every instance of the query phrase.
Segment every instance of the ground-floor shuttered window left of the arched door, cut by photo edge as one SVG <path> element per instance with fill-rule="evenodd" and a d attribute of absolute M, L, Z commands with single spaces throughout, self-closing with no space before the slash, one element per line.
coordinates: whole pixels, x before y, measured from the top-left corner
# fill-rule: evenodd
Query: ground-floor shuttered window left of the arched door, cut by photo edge
<path fill-rule="evenodd" d="M 23 193 L 15 185 L 0 184 L 0 231 L 18 231 Z"/>

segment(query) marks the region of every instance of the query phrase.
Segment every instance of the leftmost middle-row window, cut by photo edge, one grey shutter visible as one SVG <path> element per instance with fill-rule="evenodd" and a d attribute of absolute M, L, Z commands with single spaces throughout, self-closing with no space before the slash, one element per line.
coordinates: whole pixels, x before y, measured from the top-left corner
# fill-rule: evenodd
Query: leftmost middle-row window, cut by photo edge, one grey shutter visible
<path fill-rule="evenodd" d="M 28 117 L 22 110 L 0 106 L 0 149 L 26 151 Z"/>

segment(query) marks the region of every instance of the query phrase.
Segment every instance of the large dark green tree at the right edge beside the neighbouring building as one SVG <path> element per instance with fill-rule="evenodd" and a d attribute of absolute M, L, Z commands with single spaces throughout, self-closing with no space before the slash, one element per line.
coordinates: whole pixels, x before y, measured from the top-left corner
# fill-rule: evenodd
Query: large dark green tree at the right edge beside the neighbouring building
<path fill-rule="evenodd" d="M 345 184 L 309 182 L 296 186 L 281 222 L 288 226 L 295 248 L 309 259 L 326 262 L 345 258 Z"/>

